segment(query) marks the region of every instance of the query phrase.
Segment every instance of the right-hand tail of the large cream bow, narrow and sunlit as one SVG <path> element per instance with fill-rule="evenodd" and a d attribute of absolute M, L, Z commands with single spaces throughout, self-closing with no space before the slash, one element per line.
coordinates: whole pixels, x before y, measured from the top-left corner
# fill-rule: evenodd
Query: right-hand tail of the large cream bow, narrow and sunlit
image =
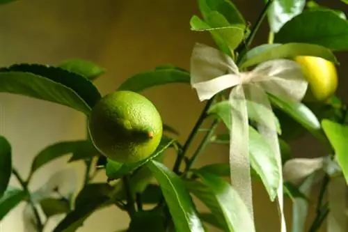
<path fill-rule="evenodd" d="M 274 151 L 274 158 L 278 165 L 278 187 L 277 187 L 277 201 L 278 212 L 280 217 L 281 232 L 286 232 L 286 223 L 283 207 L 283 164 L 280 154 L 277 125 L 274 121 L 274 113 L 271 108 L 271 103 L 268 100 L 267 94 L 258 84 L 249 84 L 246 86 L 247 98 L 251 99 L 256 105 L 262 105 L 263 110 L 258 114 L 259 120 L 257 123 L 258 132 L 266 139 L 271 150 Z M 260 107 L 255 107 L 255 111 L 259 111 Z"/>

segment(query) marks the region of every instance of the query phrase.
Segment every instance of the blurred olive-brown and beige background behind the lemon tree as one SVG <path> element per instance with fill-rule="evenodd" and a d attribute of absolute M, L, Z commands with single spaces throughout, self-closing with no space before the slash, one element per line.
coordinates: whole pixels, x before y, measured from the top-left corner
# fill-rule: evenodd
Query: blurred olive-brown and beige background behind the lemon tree
<path fill-rule="evenodd" d="M 262 1 L 234 2 L 249 22 L 255 22 Z M 189 68 L 194 42 L 212 44 L 207 33 L 189 30 L 190 17 L 197 13 L 194 0 L 18 1 L 0 7 L 0 65 L 88 59 L 106 68 L 106 75 L 96 82 L 102 94 L 106 94 L 127 77 L 159 64 Z M 267 29 L 267 24 L 263 29 Z M 257 38 L 258 42 L 264 42 L 265 37 L 263 33 Z M 346 83 L 342 81 L 343 86 Z M 343 93 L 342 86 L 340 93 Z M 180 131 L 180 140 L 184 141 L 204 105 L 198 102 L 196 93 L 188 85 L 172 84 L 143 94 L 155 103 L 163 120 Z M 67 107 L 2 93 L 0 106 L 4 116 L 1 132 L 13 145 L 13 163 L 24 177 L 34 155 L 44 146 L 85 137 L 84 116 Z M 313 141 L 310 137 L 297 141 L 294 155 L 321 155 L 320 146 L 308 144 Z M 210 146 L 198 165 L 226 160 L 227 152 L 221 146 Z M 62 158 L 40 169 L 31 189 L 40 187 L 54 171 L 67 167 L 67 160 L 68 157 Z M 171 164 L 170 157 L 167 162 Z M 81 180 L 84 166 L 81 163 L 69 166 L 77 169 Z M 100 181 L 104 179 L 103 174 L 98 177 Z M 11 184 L 17 185 L 17 182 L 11 180 Z M 253 190 L 258 231 L 278 232 L 276 205 L 269 202 L 262 185 L 255 184 Z M 290 225 L 290 201 L 285 203 L 285 208 Z M 22 210 L 23 204 L 3 219 L 3 232 L 26 231 Z M 125 213 L 107 208 L 89 217 L 79 232 L 112 232 L 126 228 L 128 223 Z M 50 222 L 47 232 L 54 225 L 55 222 Z"/>

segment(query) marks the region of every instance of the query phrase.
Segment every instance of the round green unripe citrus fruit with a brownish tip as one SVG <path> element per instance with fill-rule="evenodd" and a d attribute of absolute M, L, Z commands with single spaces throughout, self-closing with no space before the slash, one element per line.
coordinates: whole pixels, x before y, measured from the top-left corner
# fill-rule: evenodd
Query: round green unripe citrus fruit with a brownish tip
<path fill-rule="evenodd" d="M 88 130 L 103 155 L 133 163 L 155 152 L 163 129 L 161 116 L 150 100 L 132 91 L 116 91 L 93 107 Z"/>

